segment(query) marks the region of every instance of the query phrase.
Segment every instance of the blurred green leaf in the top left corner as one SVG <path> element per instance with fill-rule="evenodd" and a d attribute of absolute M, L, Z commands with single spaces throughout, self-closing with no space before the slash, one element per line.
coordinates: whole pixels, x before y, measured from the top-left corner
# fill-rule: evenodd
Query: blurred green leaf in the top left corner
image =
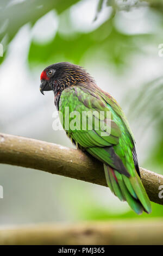
<path fill-rule="evenodd" d="M 0 30 L 5 21 L 8 21 L 8 26 L 3 33 L 0 33 L 0 42 L 5 34 L 8 35 L 8 42 L 10 42 L 23 25 L 28 22 L 33 25 L 48 11 L 55 9 L 60 14 L 78 1 L 26 0 L 16 4 L 3 5 L 3 8 L 0 9 Z"/>

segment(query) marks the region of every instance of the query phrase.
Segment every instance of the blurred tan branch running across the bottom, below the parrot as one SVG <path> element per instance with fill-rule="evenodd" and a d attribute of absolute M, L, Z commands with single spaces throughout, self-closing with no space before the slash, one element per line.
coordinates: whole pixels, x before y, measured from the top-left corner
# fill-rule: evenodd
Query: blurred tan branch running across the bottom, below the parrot
<path fill-rule="evenodd" d="M 0 245 L 163 245 L 163 222 L 143 219 L 1 227 Z"/>

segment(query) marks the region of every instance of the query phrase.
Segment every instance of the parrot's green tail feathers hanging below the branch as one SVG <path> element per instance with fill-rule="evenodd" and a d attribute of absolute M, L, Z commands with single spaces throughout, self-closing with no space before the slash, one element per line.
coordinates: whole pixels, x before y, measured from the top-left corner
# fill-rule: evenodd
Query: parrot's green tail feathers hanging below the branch
<path fill-rule="evenodd" d="M 130 178 L 105 164 L 104 170 L 106 182 L 115 196 L 120 200 L 126 200 L 136 214 L 142 214 L 143 211 L 151 212 L 151 203 L 136 170 L 135 176 Z"/>

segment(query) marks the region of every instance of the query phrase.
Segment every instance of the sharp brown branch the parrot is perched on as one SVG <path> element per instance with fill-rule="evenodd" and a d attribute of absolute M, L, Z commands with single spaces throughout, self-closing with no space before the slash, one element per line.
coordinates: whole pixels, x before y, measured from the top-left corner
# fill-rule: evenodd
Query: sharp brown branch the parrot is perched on
<path fill-rule="evenodd" d="M 73 179 L 106 186 L 103 164 L 80 150 L 0 133 L 0 163 L 44 170 Z M 141 179 L 151 201 L 162 204 L 159 186 L 163 176 L 140 168 Z"/>

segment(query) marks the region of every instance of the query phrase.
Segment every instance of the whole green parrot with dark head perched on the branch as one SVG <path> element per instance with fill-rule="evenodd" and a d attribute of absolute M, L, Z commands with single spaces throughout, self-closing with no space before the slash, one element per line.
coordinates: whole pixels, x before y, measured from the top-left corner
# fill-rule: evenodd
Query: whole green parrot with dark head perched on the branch
<path fill-rule="evenodd" d="M 71 63 L 48 66 L 40 79 L 42 94 L 54 92 L 54 103 L 67 136 L 103 163 L 112 193 L 127 201 L 136 214 L 149 214 L 151 203 L 140 179 L 134 137 L 116 100 L 99 88 L 85 69 Z"/>

